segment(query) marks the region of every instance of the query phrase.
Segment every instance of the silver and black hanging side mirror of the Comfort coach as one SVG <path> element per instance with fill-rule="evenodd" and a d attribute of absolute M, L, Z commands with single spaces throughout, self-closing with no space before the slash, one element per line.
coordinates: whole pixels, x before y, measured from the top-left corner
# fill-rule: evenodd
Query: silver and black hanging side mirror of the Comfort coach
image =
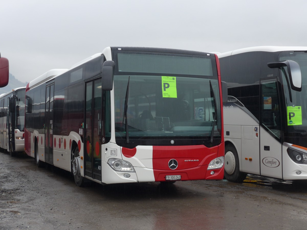
<path fill-rule="evenodd" d="M 297 62 L 286 60 L 284 62 L 269 62 L 267 65 L 270 68 L 287 67 L 291 89 L 299 92 L 302 91 L 301 68 Z"/>

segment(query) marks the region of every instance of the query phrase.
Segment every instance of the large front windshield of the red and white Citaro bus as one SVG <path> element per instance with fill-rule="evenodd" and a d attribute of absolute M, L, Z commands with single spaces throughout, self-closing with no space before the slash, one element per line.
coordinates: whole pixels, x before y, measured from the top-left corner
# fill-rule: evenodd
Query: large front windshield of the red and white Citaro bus
<path fill-rule="evenodd" d="M 116 139 L 126 138 L 126 121 L 130 140 L 138 144 L 158 145 L 167 137 L 208 140 L 212 127 L 214 138 L 221 138 L 219 85 L 211 58 L 118 53 Z"/>

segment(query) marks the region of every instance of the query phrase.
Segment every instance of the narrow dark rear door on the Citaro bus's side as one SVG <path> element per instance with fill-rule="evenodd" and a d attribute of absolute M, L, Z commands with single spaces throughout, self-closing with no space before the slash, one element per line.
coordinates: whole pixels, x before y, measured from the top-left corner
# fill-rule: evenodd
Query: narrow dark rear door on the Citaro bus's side
<path fill-rule="evenodd" d="M 45 161 L 53 164 L 53 94 L 54 83 L 46 86 Z"/>

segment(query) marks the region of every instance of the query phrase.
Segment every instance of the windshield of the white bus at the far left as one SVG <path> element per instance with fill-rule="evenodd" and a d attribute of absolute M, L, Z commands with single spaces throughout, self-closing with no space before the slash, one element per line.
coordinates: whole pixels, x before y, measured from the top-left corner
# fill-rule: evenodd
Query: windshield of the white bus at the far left
<path fill-rule="evenodd" d="M 15 128 L 19 131 L 25 131 L 25 89 L 17 91 Z"/>

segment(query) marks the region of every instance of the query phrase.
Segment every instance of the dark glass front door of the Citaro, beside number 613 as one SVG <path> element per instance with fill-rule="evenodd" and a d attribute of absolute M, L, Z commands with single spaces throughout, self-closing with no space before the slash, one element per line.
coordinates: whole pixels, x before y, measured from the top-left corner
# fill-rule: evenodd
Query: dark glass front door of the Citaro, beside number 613
<path fill-rule="evenodd" d="M 101 79 L 86 83 L 85 175 L 101 181 Z"/>

